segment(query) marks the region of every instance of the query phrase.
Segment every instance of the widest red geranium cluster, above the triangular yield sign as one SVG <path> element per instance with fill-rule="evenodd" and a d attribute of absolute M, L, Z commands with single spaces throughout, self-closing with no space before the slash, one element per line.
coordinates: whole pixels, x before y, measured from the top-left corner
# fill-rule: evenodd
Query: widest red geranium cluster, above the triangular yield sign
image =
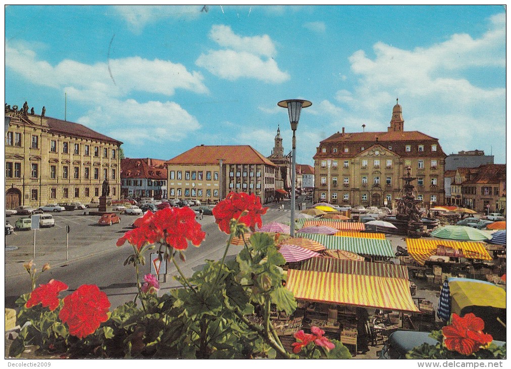
<path fill-rule="evenodd" d="M 188 241 L 200 246 L 206 236 L 195 220 L 195 212 L 189 207 L 166 208 L 155 213 L 148 211 L 134 223 L 137 228 L 124 233 L 117 241 L 117 246 L 128 241 L 140 250 L 144 245 L 162 242 L 174 249 L 186 250 Z"/>

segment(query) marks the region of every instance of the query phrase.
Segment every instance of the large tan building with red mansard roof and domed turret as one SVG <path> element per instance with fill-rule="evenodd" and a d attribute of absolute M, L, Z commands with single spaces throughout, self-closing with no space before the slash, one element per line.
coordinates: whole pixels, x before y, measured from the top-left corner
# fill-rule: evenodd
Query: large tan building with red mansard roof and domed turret
<path fill-rule="evenodd" d="M 423 205 L 444 204 L 445 158 L 438 139 L 404 130 L 397 103 L 387 132 L 345 133 L 342 128 L 319 143 L 314 155 L 314 201 L 391 208 L 400 197 L 401 178 L 409 166 Z"/>

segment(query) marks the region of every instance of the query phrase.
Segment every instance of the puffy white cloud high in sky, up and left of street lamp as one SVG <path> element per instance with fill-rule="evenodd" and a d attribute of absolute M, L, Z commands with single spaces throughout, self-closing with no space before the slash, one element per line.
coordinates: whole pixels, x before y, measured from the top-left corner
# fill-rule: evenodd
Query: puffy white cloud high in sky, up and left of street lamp
<path fill-rule="evenodd" d="M 195 61 L 211 74 L 231 81 L 254 78 L 267 83 L 282 83 L 290 78 L 287 72 L 278 69 L 273 58 L 275 47 L 268 35 L 241 37 L 228 26 L 215 25 L 210 38 L 227 48 L 202 53 Z"/>

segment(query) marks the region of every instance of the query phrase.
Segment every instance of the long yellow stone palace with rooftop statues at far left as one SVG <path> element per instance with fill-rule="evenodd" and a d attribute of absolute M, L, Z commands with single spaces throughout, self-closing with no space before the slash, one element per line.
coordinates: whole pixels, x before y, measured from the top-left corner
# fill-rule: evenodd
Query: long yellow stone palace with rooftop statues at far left
<path fill-rule="evenodd" d="M 5 105 L 6 208 L 49 203 L 89 203 L 101 196 L 108 178 L 110 196 L 121 190 L 121 141 L 84 125 Z"/>

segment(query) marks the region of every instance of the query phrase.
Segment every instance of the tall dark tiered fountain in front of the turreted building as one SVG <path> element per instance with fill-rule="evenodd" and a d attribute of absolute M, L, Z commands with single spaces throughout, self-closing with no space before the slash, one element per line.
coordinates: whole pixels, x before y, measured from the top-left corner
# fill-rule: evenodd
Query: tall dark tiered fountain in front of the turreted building
<path fill-rule="evenodd" d="M 405 182 L 403 186 L 403 196 L 396 199 L 397 214 L 395 217 L 387 217 L 386 222 L 392 223 L 398 227 L 398 233 L 405 234 L 410 237 L 421 237 L 424 234 L 424 224 L 421 221 L 421 203 L 422 200 L 416 200 L 413 193 L 415 188 L 411 182 L 417 178 L 410 174 L 410 167 L 406 168 L 407 173 L 401 179 Z"/>

